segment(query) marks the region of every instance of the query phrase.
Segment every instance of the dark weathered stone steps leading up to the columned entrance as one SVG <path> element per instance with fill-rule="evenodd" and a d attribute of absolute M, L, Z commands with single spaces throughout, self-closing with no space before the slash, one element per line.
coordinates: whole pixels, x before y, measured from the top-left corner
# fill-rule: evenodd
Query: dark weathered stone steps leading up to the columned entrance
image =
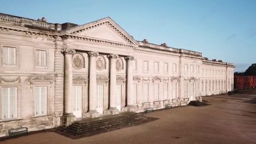
<path fill-rule="evenodd" d="M 157 120 L 157 118 L 146 117 L 139 113 L 124 112 L 95 119 L 75 121 L 75 123 L 68 127 L 60 127 L 58 133 L 72 139 L 78 139 L 80 137 L 97 135 L 124 127 L 136 126 L 153 120 Z"/>

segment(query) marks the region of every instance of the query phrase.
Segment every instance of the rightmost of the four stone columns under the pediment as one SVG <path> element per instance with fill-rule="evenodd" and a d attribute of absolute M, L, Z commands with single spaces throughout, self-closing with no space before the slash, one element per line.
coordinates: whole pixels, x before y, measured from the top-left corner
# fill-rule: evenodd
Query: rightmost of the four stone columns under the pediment
<path fill-rule="evenodd" d="M 125 57 L 127 60 L 127 110 L 135 111 L 133 107 L 133 56 Z"/>

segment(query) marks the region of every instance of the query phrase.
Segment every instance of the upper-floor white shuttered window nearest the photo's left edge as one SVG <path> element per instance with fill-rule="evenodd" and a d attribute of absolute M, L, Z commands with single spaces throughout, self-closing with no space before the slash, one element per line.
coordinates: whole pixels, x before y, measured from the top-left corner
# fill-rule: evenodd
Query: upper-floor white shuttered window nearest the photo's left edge
<path fill-rule="evenodd" d="M 2 52 L 4 65 L 16 64 L 16 49 L 14 47 L 3 47 Z"/>

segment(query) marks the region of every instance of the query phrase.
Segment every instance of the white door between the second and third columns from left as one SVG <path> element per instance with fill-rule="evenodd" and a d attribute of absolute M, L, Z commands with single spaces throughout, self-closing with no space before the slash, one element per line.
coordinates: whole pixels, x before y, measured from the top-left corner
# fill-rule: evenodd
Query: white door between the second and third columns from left
<path fill-rule="evenodd" d="M 96 95 L 96 110 L 98 113 L 103 114 L 103 94 L 104 85 L 97 85 L 97 95 Z"/>

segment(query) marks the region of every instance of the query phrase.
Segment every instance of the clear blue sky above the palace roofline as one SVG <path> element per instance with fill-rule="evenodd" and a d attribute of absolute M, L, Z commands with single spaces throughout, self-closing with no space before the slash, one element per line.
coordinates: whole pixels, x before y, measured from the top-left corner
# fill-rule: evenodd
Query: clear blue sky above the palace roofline
<path fill-rule="evenodd" d="M 111 17 L 135 40 L 201 52 L 235 72 L 256 63 L 255 0 L 6 0 L 0 12 L 60 24 Z"/>

